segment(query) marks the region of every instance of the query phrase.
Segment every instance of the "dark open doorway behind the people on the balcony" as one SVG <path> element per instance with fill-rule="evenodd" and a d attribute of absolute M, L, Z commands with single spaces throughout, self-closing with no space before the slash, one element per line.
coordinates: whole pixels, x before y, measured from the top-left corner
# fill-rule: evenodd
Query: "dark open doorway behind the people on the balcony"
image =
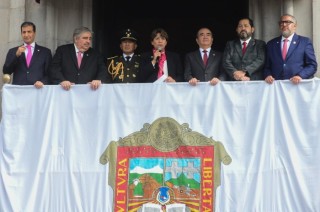
<path fill-rule="evenodd" d="M 142 53 L 151 49 L 151 31 L 162 27 L 169 34 L 167 48 L 184 56 L 198 48 L 198 29 L 208 27 L 214 35 L 213 48 L 223 51 L 226 42 L 236 37 L 238 19 L 246 16 L 248 0 L 93 0 L 93 45 L 105 57 L 118 55 L 119 32 L 132 28 L 139 35 L 137 53 Z"/>

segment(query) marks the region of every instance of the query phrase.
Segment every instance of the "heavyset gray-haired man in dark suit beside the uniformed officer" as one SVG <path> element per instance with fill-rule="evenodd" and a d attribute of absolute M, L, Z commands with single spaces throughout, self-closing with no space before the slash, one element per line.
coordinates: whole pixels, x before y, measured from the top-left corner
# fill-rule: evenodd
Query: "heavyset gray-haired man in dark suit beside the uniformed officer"
<path fill-rule="evenodd" d="M 74 30 L 73 44 L 59 46 L 50 66 L 53 84 L 69 90 L 74 84 L 89 83 L 93 90 L 111 82 L 102 55 L 91 48 L 92 32 L 87 27 Z"/>

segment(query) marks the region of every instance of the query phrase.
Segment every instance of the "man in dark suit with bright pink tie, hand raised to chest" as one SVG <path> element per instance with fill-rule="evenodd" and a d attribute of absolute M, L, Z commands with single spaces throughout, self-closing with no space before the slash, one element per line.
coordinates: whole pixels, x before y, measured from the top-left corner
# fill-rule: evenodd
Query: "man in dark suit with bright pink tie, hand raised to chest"
<path fill-rule="evenodd" d="M 36 26 L 32 22 L 21 24 L 23 45 L 9 50 L 3 74 L 13 74 L 12 84 L 34 85 L 42 88 L 49 83 L 48 67 L 52 60 L 51 50 L 35 43 Z"/>

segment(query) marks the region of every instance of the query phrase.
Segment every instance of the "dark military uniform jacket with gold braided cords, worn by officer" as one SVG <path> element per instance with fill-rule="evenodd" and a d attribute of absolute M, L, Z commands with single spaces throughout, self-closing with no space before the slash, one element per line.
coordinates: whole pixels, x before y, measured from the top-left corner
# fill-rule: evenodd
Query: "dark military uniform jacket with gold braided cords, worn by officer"
<path fill-rule="evenodd" d="M 107 59 L 107 74 L 112 83 L 135 83 L 140 71 L 140 55 L 134 54 L 129 62 L 121 56 Z"/>

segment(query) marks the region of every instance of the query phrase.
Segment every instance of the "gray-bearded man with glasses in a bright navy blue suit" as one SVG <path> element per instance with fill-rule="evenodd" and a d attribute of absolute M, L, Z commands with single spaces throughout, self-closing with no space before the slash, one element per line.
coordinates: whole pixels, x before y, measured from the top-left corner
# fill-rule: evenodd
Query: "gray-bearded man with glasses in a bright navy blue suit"
<path fill-rule="evenodd" d="M 317 71 L 317 61 L 309 38 L 297 35 L 297 20 L 286 14 L 279 21 L 281 36 L 267 43 L 267 61 L 264 68 L 265 81 L 289 79 L 298 84 L 310 79 Z"/>

